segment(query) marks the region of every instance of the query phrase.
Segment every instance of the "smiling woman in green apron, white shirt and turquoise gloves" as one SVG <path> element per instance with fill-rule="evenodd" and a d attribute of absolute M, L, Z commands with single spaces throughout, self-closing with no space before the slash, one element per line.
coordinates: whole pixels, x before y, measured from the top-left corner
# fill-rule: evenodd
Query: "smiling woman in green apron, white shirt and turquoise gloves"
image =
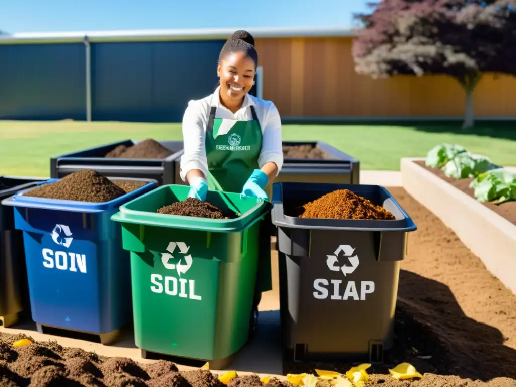
<path fill-rule="evenodd" d="M 236 31 L 220 52 L 215 92 L 188 104 L 181 178 L 190 185 L 189 197 L 206 199 L 211 174 L 223 191 L 268 200 L 264 188 L 283 165 L 281 119 L 272 102 L 248 94 L 257 66 L 254 38 Z M 270 217 L 260 230 L 254 314 L 261 293 L 272 289 L 269 225 Z"/>

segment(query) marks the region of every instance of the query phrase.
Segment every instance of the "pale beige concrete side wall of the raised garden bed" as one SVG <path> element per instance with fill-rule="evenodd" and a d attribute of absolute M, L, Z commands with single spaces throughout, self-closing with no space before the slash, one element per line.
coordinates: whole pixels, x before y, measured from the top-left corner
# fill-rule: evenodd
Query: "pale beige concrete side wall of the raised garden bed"
<path fill-rule="evenodd" d="M 417 162 L 422 158 L 401 159 L 401 182 L 405 190 L 418 202 L 439 217 L 453 230 L 462 243 L 477 255 L 488 270 L 516 294 L 516 219 L 515 202 L 511 213 L 483 204 L 463 190 Z M 420 230 L 419 232 L 425 232 Z"/>

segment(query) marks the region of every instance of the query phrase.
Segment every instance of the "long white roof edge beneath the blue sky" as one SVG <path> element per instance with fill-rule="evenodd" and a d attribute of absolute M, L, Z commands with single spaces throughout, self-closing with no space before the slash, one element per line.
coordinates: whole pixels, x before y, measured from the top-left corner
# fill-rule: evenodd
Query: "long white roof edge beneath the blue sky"
<path fill-rule="evenodd" d="M 78 43 L 85 39 L 92 43 L 213 40 L 228 39 L 238 29 L 248 30 L 255 38 L 326 38 L 356 35 L 353 29 L 337 27 L 147 29 L 7 34 L 0 35 L 0 44 Z"/>

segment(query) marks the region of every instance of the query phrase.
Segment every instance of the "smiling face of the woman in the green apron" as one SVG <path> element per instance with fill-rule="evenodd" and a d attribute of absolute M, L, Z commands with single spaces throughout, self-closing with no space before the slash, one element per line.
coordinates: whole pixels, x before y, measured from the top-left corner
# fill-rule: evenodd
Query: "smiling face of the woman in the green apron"
<path fill-rule="evenodd" d="M 217 67 L 220 93 L 240 100 L 253 87 L 254 61 L 243 52 L 231 53 Z"/>

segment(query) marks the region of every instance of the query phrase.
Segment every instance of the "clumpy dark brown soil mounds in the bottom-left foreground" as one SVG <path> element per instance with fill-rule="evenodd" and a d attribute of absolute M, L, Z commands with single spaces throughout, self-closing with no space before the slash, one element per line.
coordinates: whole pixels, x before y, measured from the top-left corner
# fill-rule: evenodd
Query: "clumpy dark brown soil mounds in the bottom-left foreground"
<path fill-rule="evenodd" d="M 22 338 L 33 344 L 12 347 Z M 179 372 L 174 363 L 164 360 L 143 365 L 127 358 L 99 357 L 80 348 L 35 342 L 24 334 L 7 333 L 0 333 L 0 386 L 224 387 L 217 375 L 208 370 Z"/>

